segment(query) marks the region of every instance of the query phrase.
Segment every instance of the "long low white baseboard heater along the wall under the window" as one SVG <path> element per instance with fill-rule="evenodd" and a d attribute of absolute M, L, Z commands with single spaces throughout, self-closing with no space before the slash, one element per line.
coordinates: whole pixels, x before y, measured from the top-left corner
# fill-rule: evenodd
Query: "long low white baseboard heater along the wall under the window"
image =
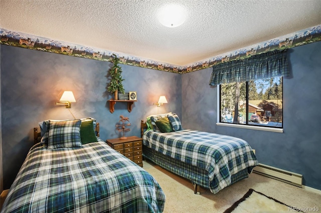
<path fill-rule="evenodd" d="M 302 187 L 302 174 L 259 163 L 253 172 Z"/>

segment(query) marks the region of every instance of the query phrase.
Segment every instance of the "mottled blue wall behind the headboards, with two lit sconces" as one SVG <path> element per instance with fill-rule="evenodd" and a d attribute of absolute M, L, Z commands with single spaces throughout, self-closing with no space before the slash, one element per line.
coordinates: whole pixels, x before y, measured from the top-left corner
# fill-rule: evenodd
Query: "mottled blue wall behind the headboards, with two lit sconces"
<path fill-rule="evenodd" d="M 131 131 L 140 136 L 140 120 L 157 113 L 159 95 L 169 103 L 159 113 L 182 115 L 181 75 L 136 66 L 121 65 L 126 91 L 137 91 L 132 111 L 116 103 L 109 112 L 112 96 L 106 92 L 107 70 L 112 63 L 50 52 L 1 45 L 1 113 L 4 188 L 9 188 L 28 150 L 33 145 L 33 127 L 45 119 L 71 119 L 63 105 L 55 105 L 64 90 L 72 90 L 76 101 L 71 112 L 76 118 L 94 117 L 100 122 L 102 139 L 118 137 L 119 115 L 128 116 Z"/>

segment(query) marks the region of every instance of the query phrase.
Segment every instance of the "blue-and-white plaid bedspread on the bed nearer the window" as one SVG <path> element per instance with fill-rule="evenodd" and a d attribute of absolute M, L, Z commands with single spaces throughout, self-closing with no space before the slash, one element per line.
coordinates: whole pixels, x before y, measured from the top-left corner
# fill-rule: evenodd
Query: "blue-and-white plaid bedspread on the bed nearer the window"
<path fill-rule="evenodd" d="M 250 145 L 228 135 L 191 129 L 168 133 L 149 130 L 143 134 L 143 144 L 208 171 L 209 188 L 213 193 L 230 185 L 231 175 L 246 168 L 251 173 L 258 165 Z"/>

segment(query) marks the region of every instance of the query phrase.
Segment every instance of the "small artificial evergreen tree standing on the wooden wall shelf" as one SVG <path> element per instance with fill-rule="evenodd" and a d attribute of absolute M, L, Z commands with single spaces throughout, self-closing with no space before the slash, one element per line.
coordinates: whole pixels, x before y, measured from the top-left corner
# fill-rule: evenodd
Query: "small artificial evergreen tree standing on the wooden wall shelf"
<path fill-rule="evenodd" d="M 112 62 L 114 65 L 109 69 L 109 76 L 110 76 L 110 82 L 108 84 L 107 90 L 111 93 L 114 92 L 114 99 L 118 99 L 118 92 L 125 93 L 124 86 L 122 84 L 122 81 L 125 80 L 121 76 L 121 67 L 118 65 L 119 58 L 117 55 L 113 54 L 114 58 L 112 59 Z"/>

